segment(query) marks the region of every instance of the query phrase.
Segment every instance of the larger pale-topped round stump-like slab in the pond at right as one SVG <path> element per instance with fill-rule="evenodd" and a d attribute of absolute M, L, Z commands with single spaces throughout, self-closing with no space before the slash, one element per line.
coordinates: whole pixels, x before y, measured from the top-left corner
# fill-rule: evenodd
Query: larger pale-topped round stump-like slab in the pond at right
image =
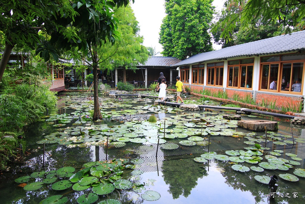
<path fill-rule="evenodd" d="M 264 132 L 265 126 L 267 131 L 278 131 L 277 121 L 265 121 L 265 120 L 242 120 L 238 121 L 237 125 L 241 128 L 255 132 Z"/>

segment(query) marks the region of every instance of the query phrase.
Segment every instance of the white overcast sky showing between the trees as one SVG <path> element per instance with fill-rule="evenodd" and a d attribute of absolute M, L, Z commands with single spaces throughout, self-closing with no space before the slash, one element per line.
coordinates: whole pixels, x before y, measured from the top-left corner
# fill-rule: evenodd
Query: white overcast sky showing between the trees
<path fill-rule="evenodd" d="M 213 6 L 220 11 L 225 0 L 214 0 Z M 144 37 L 143 45 L 146 47 L 156 47 L 156 52 L 162 51 L 162 45 L 159 43 L 159 32 L 162 20 L 165 17 L 164 0 L 135 0 L 130 3 L 134 10 L 140 26 L 140 35 Z M 221 49 L 220 45 L 213 43 L 215 50 Z M 160 54 L 156 56 L 161 56 Z"/>

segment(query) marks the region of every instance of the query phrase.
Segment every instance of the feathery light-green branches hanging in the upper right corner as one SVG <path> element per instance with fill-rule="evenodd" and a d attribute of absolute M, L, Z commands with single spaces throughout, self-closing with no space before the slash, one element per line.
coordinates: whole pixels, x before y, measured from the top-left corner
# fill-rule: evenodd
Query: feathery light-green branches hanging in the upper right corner
<path fill-rule="evenodd" d="M 240 4 L 244 1 L 238 1 Z M 240 24 L 239 24 L 240 22 Z M 248 0 L 238 12 L 226 16 L 213 27 L 213 31 L 221 28 L 220 38 L 232 40 L 236 27 L 248 31 L 245 34 L 257 35 L 257 24 L 279 24 L 281 33 L 290 33 L 304 29 L 305 1 L 303 0 Z M 278 30 L 280 32 L 280 30 Z M 279 33 L 280 34 L 280 33 Z"/>

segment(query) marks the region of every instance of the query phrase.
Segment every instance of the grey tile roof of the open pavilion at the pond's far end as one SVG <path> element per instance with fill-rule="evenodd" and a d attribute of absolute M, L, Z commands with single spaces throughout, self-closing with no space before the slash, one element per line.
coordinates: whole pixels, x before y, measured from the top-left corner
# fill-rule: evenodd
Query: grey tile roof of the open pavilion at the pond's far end
<path fill-rule="evenodd" d="M 176 57 L 158 57 L 158 56 L 151 56 L 148 57 L 145 64 L 139 64 L 137 67 L 167 67 L 170 65 L 177 64 L 181 60 L 177 59 Z"/>

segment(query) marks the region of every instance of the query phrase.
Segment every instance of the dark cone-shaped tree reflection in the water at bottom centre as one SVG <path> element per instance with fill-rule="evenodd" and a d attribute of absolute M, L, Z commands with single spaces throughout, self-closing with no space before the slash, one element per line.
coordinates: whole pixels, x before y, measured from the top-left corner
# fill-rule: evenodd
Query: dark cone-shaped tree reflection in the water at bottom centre
<path fill-rule="evenodd" d="M 163 161 L 162 169 L 164 181 L 169 184 L 168 192 L 174 199 L 180 195 L 187 198 L 198 178 L 208 175 L 202 163 L 196 163 L 192 158 Z"/>

